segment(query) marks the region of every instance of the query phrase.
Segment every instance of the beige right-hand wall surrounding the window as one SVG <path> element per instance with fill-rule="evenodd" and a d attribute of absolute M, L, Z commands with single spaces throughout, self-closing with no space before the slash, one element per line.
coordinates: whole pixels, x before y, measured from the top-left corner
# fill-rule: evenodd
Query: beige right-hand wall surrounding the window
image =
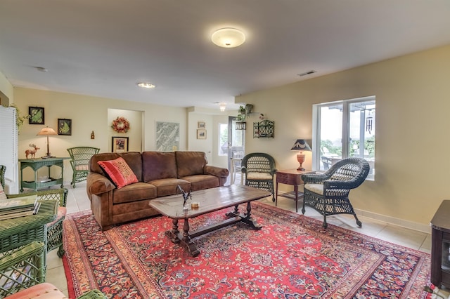
<path fill-rule="evenodd" d="M 313 104 L 375 95 L 375 181 L 350 199 L 360 213 L 428 230 L 450 195 L 449 79 L 450 45 L 242 95 L 236 102 L 275 121 L 274 139 L 253 139 L 247 131 L 246 152 L 267 152 L 278 169 L 294 168 L 290 147 L 297 138 L 311 139 Z M 311 168 L 311 156 L 305 166 Z"/>

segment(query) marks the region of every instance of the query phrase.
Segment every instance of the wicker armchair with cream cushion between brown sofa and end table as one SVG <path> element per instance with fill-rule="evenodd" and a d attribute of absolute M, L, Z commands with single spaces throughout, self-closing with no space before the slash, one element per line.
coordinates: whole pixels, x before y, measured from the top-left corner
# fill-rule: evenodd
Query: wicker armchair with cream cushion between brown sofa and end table
<path fill-rule="evenodd" d="M 271 192 L 272 201 L 275 202 L 274 175 L 276 168 L 274 158 L 269 154 L 253 152 L 246 154 L 240 165 L 245 185 Z"/>

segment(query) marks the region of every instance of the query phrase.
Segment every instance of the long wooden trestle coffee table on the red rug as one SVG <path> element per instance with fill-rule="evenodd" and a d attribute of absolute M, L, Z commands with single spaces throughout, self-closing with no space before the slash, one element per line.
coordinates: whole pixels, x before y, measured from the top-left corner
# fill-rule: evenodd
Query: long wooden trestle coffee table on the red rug
<path fill-rule="evenodd" d="M 260 230 L 261 226 L 257 224 L 250 213 L 252 211 L 250 202 L 269 196 L 271 196 L 270 192 L 259 190 L 255 187 L 229 185 L 192 192 L 192 201 L 199 203 L 199 207 L 195 209 L 183 210 L 183 197 L 181 194 L 152 199 L 149 205 L 162 215 L 172 219 L 172 230 L 165 232 L 167 237 L 172 242 L 181 244 L 190 255 L 197 256 L 200 251 L 198 251 L 197 246 L 191 240 L 192 238 L 240 221 L 247 223 L 254 230 Z M 245 203 L 247 203 L 246 211 L 245 213 L 240 213 L 238 206 Z M 215 225 L 200 228 L 195 232 L 189 232 L 190 218 L 229 208 L 230 206 L 234 206 L 234 210 L 226 213 L 229 219 Z M 184 219 L 182 233 L 178 229 L 178 220 L 180 219 Z"/>

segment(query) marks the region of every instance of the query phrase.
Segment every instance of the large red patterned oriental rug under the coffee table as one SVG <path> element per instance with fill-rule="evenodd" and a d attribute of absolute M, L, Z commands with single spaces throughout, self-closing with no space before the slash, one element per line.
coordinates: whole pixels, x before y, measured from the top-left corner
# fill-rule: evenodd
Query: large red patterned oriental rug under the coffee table
<path fill-rule="evenodd" d="M 168 218 L 101 232 L 90 211 L 68 215 L 70 298 L 91 288 L 108 298 L 425 298 L 428 253 L 333 225 L 324 230 L 319 220 L 259 202 L 252 206 L 262 230 L 239 223 L 197 237 L 196 258 L 165 236 Z M 224 213 L 194 218 L 191 230 Z"/>

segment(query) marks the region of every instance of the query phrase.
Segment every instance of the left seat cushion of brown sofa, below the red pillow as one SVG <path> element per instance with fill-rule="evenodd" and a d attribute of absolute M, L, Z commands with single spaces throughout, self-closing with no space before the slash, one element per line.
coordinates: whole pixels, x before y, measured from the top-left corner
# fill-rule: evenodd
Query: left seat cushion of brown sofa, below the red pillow
<path fill-rule="evenodd" d="M 124 204 L 143 199 L 154 199 L 156 197 L 156 187 L 145 182 L 136 182 L 116 189 L 113 192 L 113 204 Z"/>

